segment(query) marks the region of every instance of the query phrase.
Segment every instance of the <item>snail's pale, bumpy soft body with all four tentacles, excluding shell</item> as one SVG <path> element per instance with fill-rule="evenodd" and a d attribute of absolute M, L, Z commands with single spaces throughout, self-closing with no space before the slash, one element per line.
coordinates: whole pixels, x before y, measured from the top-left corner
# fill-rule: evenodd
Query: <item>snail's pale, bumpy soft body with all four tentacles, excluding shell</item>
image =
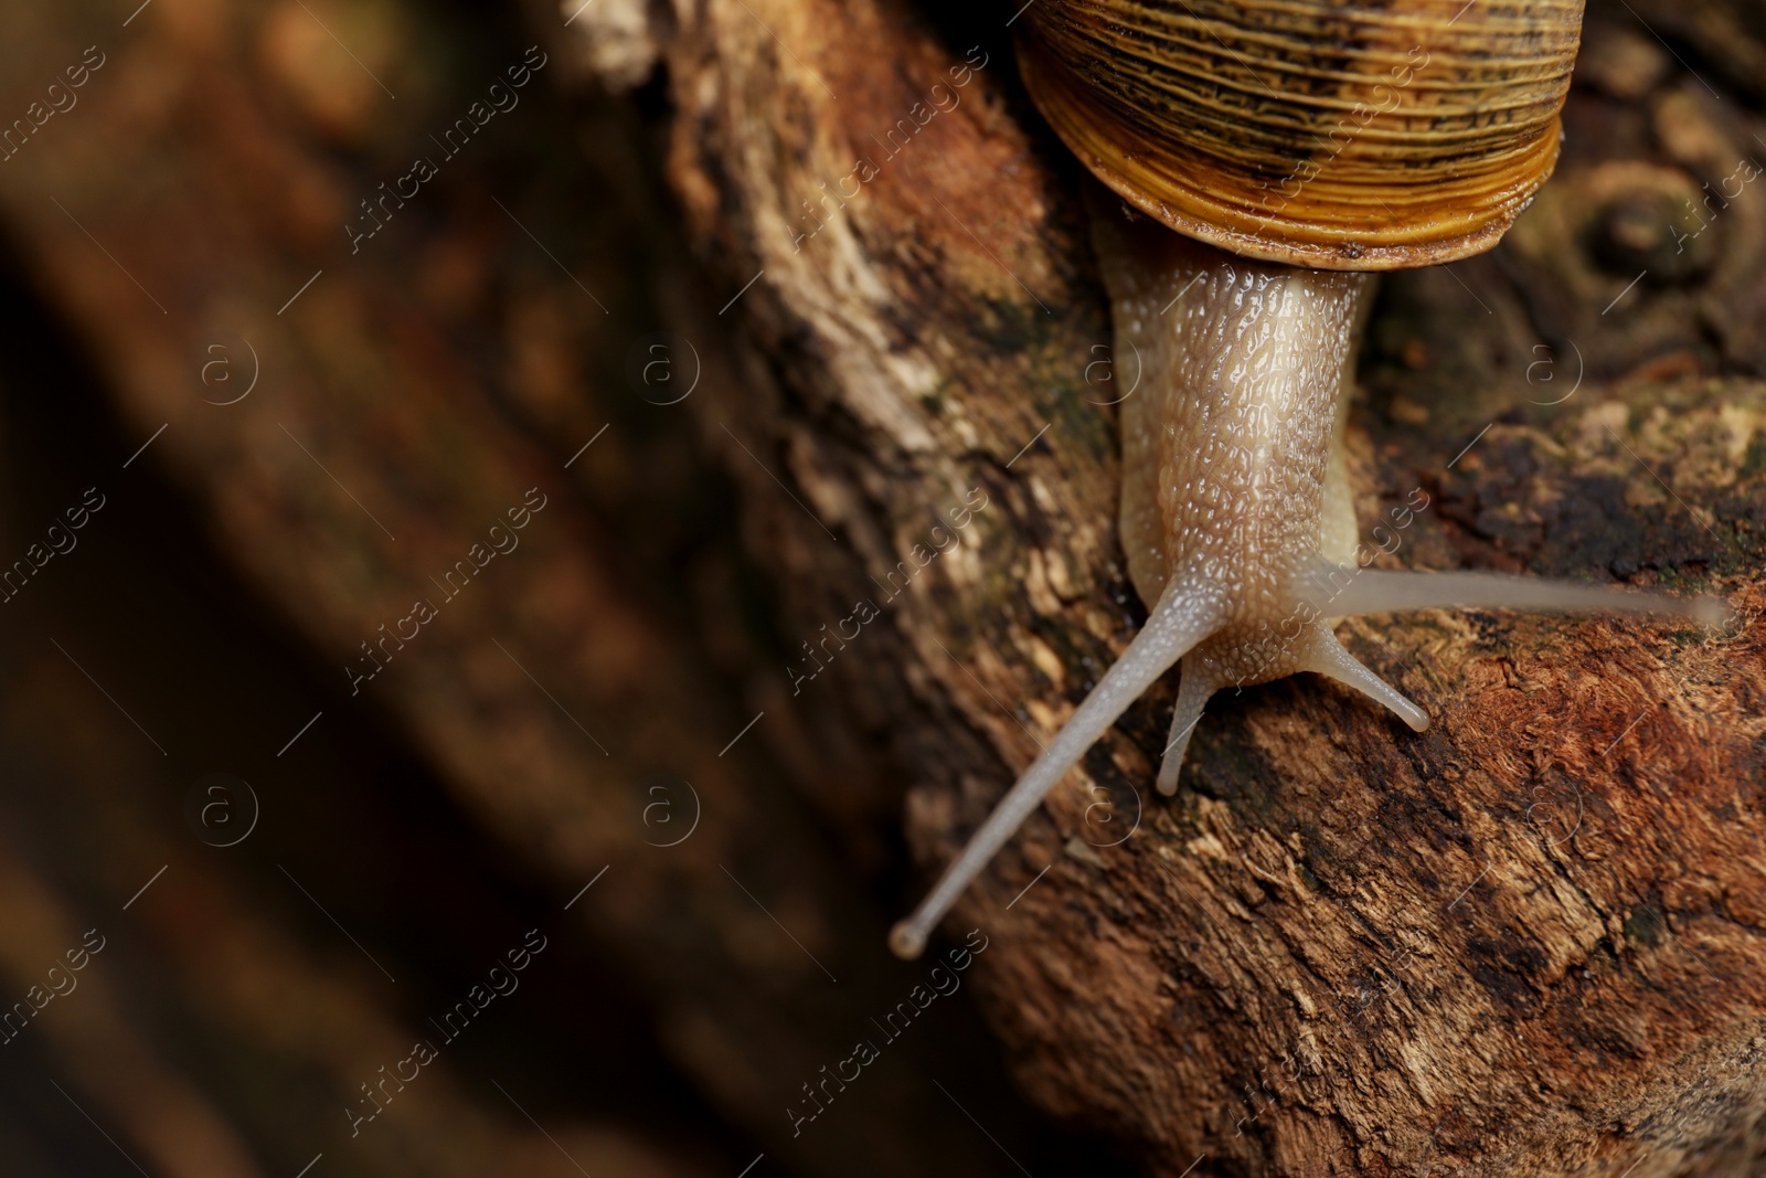
<path fill-rule="evenodd" d="M 1111 203 L 1111 201 L 1100 201 Z M 1130 219 L 1132 217 L 1132 219 Z M 1362 666 L 1332 625 L 1443 606 L 1727 616 L 1708 599 L 1487 572 L 1386 572 L 1356 560 L 1342 427 L 1374 276 L 1226 254 L 1123 207 L 1093 212 L 1121 403 L 1121 517 L 1146 625 L 945 869 L 890 948 L 938 920 L 1128 705 L 1181 661 L 1158 789 L 1174 793 L 1203 705 L 1222 687 L 1316 671 L 1415 731 L 1429 715 Z"/>

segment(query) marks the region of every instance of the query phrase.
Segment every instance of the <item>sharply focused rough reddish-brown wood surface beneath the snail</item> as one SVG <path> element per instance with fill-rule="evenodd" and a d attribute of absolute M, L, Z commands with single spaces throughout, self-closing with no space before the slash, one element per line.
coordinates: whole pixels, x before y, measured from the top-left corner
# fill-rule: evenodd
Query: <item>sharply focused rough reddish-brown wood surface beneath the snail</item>
<path fill-rule="evenodd" d="M 673 21 L 671 178 L 728 290 L 759 274 L 731 417 L 768 443 L 728 464 L 804 634 L 962 487 L 989 495 L 826 673 L 911 766 L 932 869 L 1139 616 L 1075 178 L 994 23 L 814 0 Z M 927 117 L 964 34 L 987 69 Z M 1761 157 L 1761 120 L 1623 9 L 1589 39 L 1605 64 L 1512 244 L 1386 288 L 1353 419 L 1362 523 L 1420 491 L 1400 565 L 1708 588 L 1738 620 L 1356 622 L 1429 733 L 1310 678 L 1247 691 L 1210 706 L 1171 804 L 1146 797 L 1169 685 L 1132 710 L 954 925 L 1003 950 L 982 977 L 1028 1090 L 1150 1173 L 1644 1178 L 1759 1155 L 1766 198 L 1679 221 Z M 922 125 L 888 155 L 902 118 Z M 876 177 L 821 208 L 855 159 Z"/>

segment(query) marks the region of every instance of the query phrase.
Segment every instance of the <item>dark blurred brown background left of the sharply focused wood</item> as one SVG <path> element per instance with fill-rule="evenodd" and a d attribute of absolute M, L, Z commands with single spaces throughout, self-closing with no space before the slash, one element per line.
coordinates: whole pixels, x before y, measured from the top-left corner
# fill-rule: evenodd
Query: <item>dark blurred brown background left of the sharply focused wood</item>
<path fill-rule="evenodd" d="M 660 85 L 567 16 L 0 14 L 0 1173 L 1079 1157 L 968 989 L 872 1028 L 899 786 L 781 699 Z"/>

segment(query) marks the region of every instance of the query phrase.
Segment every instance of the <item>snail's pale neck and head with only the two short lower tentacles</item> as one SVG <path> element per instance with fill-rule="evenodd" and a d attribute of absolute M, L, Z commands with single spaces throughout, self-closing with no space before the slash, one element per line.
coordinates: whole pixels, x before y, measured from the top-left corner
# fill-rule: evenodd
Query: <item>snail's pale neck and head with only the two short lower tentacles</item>
<path fill-rule="evenodd" d="M 1319 671 L 1425 728 L 1317 615 L 1300 623 L 1314 574 L 1356 567 L 1340 434 L 1372 276 L 1222 256 L 1144 219 L 1097 217 L 1095 238 L 1116 346 L 1143 359 L 1151 394 L 1121 404 L 1128 576 L 1155 608 L 1167 592 L 1213 602 L 1158 789 L 1176 791 L 1203 703 L 1229 683 Z"/>

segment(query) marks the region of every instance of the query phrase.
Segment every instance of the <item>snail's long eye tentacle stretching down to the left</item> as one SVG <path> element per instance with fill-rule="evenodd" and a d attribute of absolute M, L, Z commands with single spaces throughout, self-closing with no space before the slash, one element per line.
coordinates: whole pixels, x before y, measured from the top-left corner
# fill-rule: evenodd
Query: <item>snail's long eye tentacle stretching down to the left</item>
<path fill-rule="evenodd" d="M 962 894 L 962 888 L 987 867 L 994 853 L 1030 818 L 1061 777 L 1067 775 L 1086 749 L 1102 736 L 1160 675 L 1176 666 L 1196 643 L 1219 629 L 1224 608 L 1219 592 L 1197 576 L 1174 576 L 1166 585 L 1146 625 L 1134 636 L 1121 657 L 1106 671 L 1084 703 L 1072 714 L 1054 740 L 1044 747 L 1024 775 L 987 821 L 970 837 L 968 846 L 940 876 L 932 892 L 920 901 L 913 915 L 897 924 L 888 936 L 897 957 L 915 959 L 925 948 L 925 938 L 943 920 Z"/>

